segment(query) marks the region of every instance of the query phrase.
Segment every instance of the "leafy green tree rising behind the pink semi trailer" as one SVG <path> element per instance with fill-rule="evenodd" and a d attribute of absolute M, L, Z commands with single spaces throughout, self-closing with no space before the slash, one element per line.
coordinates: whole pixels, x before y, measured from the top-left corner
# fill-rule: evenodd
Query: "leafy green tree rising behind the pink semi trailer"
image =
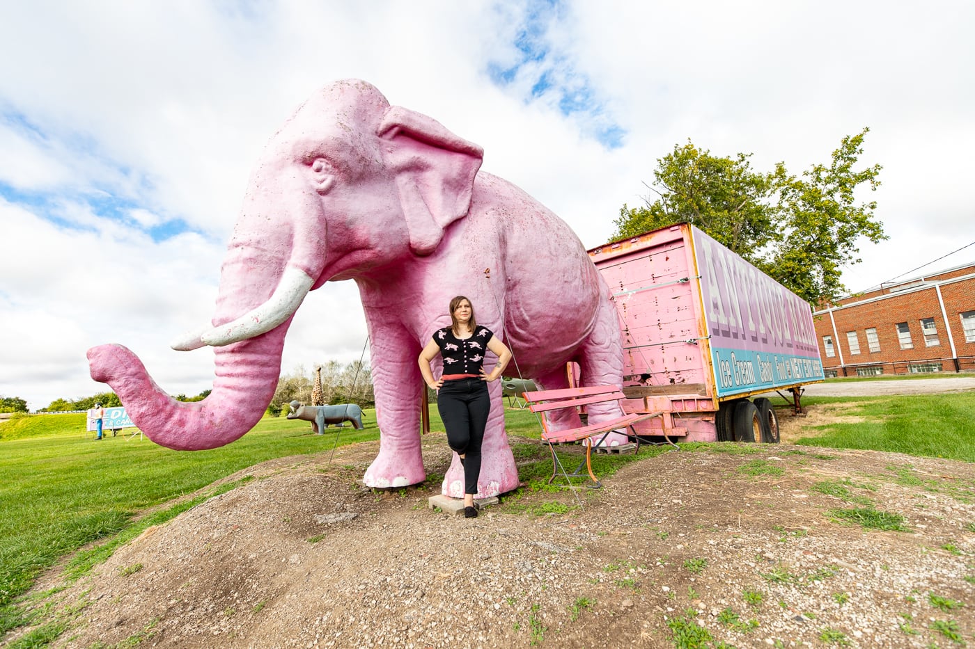
<path fill-rule="evenodd" d="M 886 239 L 876 201 L 858 202 L 857 190 L 880 184 L 879 165 L 857 168 L 869 129 L 842 138 L 829 165 L 801 176 L 779 163 L 756 172 L 751 154 L 719 158 L 688 140 L 657 161 L 658 194 L 646 207 L 624 205 L 615 220 L 620 239 L 677 222 L 701 228 L 814 306 L 846 292 L 843 266 L 859 263 L 861 237 Z"/>

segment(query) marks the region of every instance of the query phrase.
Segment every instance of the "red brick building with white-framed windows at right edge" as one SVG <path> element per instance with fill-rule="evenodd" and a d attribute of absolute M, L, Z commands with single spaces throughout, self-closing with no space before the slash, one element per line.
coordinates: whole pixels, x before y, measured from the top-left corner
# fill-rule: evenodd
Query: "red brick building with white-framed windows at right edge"
<path fill-rule="evenodd" d="M 813 323 L 827 376 L 975 370 L 975 264 L 841 298 Z"/>

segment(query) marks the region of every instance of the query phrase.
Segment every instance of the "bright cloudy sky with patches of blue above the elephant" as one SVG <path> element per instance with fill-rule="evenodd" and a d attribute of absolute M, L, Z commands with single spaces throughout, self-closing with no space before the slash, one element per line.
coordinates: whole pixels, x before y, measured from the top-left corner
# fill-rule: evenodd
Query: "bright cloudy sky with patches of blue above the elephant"
<path fill-rule="evenodd" d="M 268 138 L 357 77 L 485 148 L 483 169 L 583 244 L 688 138 L 794 173 L 870 127 L 890 240 L 853 290 L 975 260 L 975 5 L 624 0 L 0 3 L 0 395 L 31 409 L 106 386 L 118 342 L 171 394 L 213 353 L 169 341 L 212 316 L 220 260 Z M 283 359 L 360 358 L 351 282 L 311 293 Z"/>

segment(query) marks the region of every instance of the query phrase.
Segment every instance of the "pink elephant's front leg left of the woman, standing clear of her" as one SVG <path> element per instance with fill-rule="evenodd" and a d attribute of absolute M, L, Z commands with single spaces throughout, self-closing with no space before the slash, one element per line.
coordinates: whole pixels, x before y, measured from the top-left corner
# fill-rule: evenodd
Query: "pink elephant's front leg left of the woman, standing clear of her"
<path fill-rule="evenodd" d="M 424 383 L 416 364 L 420 348 L 402 326 L 376 322 L 370 309 L 366 310 L 366 318 L 372 338 L 370 357 L 379 454 L 363 480 L 370 487 L 417 484 L 426 478 L 419 409 Z"/>

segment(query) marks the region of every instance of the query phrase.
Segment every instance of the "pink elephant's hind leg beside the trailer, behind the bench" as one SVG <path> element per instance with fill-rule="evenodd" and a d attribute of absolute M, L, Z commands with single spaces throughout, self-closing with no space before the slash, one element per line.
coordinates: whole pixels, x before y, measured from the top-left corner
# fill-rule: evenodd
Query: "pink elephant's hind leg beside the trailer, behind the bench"
<path fill-rule="evenodd" d="M 619 315 L 608 300 L 600 304 L 596 325 L 578 352 L 579 380 L 583 386 L 623 384 L 623 347 L 619 341 Z M 593 403 L 586 408 L 589 422 L 597 424 L 622 417 L 624 412 L 618 401 Z M 626 443 L 624 433 L 613 432 L 601 442 L 604 446 Z"/>

